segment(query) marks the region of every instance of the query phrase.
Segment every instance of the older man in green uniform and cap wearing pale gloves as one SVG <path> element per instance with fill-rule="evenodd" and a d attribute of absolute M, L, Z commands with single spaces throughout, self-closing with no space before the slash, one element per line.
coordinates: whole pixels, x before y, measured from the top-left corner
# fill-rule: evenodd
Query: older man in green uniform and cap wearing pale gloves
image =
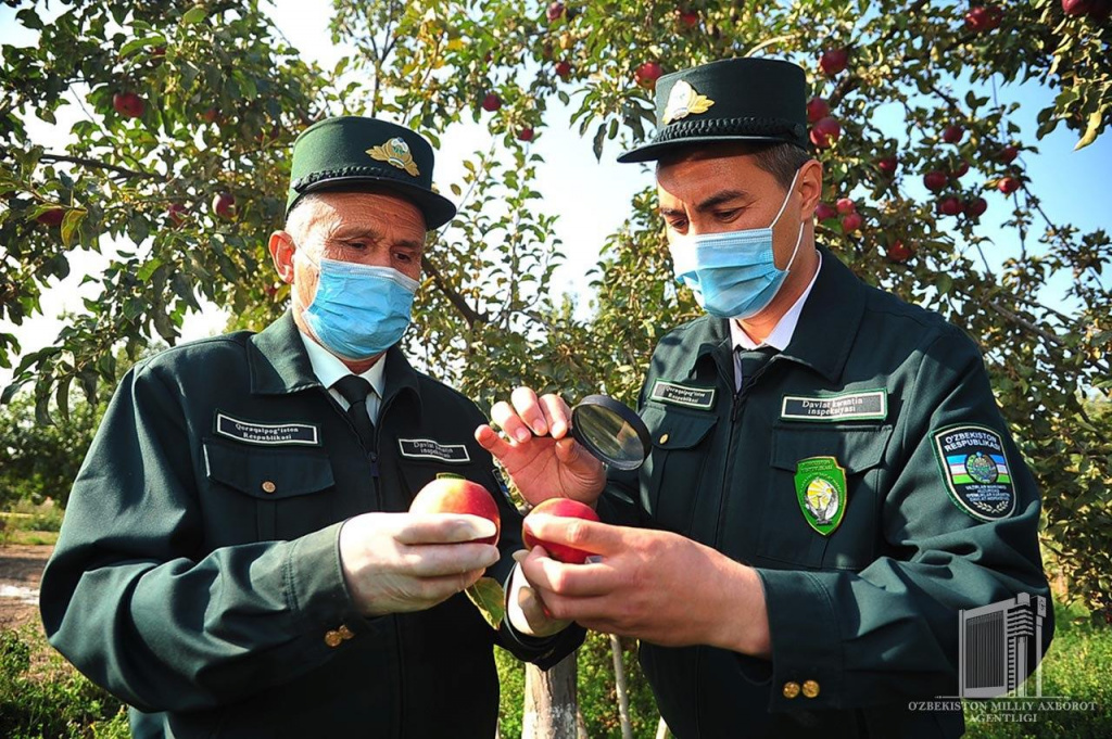
<path fill-rule="evenodd" d="M 503 495 L 500 551 L 486 519 L 405 512 L 438 477 L 502 488 L 481 413 L 397 347 L 455 208 L 428 142 L 369 118 L 307 129 L 291 180 L 269 244 L 291 310 L 128 372 L 43 575 L 47 632 L 137 737 L 489 739 L 493 645 L 548 666 L 582 629 L 495 631 L 460 595 L 512 571 Z"/>

